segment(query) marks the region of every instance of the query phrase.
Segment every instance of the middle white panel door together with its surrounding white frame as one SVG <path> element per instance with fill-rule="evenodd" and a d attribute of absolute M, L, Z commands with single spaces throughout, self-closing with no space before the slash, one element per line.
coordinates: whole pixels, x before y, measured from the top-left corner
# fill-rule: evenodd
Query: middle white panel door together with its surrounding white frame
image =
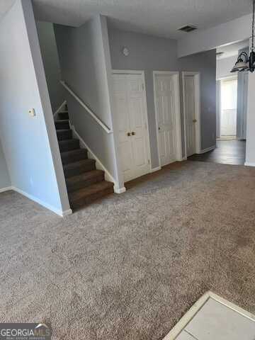
<path fill-rule="evenodd" d="M 179 72 L 154 71 L 159 165 L 182 159 Z"/>

